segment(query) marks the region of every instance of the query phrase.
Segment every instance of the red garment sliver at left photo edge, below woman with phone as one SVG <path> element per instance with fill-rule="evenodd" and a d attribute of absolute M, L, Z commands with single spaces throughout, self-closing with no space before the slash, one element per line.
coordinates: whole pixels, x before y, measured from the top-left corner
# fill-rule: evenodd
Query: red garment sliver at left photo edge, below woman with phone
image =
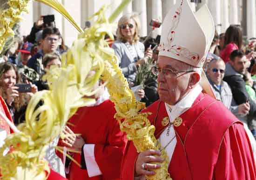
<path fill-rule="evenodd" d="M 13 119 L 12 119 L 12 116 L 9 112 L 9 109 L 4 101 L 4 99 L 0 96 L 0 111 L 2 111 L 6 116 L 7 118 L 13 122 Z M 7 134 L 9 135 L 10 133 L 13 133 L 13 130 L 10 129 L 9 125 L 7 124 L 7 122 L 5 122 L 5 120 L 0 117 L 0 128 L 1 129 L 5 129 L 7 131 Z"/>

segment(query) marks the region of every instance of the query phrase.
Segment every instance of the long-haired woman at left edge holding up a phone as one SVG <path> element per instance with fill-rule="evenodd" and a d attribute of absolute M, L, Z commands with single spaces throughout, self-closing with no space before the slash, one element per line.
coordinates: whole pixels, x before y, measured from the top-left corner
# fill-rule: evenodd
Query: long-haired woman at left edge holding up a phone
<path fill-rule="evenodd" d="M 0 96 L 7 103 L 15 124 L 24 120 L 27 104 L 31 96 L 37 92 L 37 86 L 27 80 L 20 88 L 15 86 L 18 82 L 20 82 L 20 78 L 16 66 L 9 62 L 0 64 Z M 30 89 L 30 92 L 27 92 L 26 89 Z"/>

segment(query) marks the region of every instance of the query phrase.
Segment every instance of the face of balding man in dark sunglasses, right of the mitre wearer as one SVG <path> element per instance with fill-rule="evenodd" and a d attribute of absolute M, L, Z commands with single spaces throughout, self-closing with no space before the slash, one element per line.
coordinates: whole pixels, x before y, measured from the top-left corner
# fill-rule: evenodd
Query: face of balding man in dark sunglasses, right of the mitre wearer
<path fill-rule="evenodd" d="M 225 74 L 225 63 L 223 61 L 210 63 L 207 74 L 212 82 L 216 85 L 220 85 Z"/>

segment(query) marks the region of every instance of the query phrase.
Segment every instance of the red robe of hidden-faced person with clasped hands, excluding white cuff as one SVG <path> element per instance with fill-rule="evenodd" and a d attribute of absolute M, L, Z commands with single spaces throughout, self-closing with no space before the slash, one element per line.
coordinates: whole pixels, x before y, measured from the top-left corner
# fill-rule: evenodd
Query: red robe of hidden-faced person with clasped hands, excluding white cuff
<path fill-rule="evenodd" d="M 97 106 L 78 109 L 68 121 L 75 125 L 69 128 L 75 134 L 81 134 L 86 144 L 95 144 L 94 157 L 102 173 L 89 178 L 87 170 L 71 162 L 69 180 L 120 179 L 121 160 L 127 140 L 114 118 L 115 112 L 114 103 L 106 100 Z M 80 163 L 81 154 L 74 154 L 74 159 Z"/>

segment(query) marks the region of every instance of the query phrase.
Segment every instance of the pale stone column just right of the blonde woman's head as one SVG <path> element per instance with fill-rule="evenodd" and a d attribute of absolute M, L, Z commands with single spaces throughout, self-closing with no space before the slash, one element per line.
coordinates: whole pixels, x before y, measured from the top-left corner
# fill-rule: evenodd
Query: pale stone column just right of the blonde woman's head
<path fill-rule="evenodd" d="M 134 12 L 137 12 L 139 14 L 139 18 L 141 21 L 141 30 L 139 32 L 139 35 L 141 37 L 147 36 L 147 1 L 146 0 L 134 0 L 133 1 L 133 9 Z"/>

